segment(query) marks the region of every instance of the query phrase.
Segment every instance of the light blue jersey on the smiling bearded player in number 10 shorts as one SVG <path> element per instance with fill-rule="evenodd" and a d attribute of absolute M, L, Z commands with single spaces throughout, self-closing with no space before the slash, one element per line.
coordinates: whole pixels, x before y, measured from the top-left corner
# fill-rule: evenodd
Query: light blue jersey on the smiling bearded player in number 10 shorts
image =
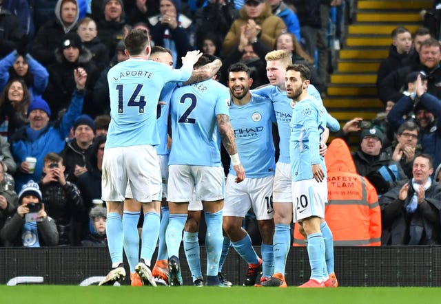
<path fill-rule="evenodd" d="M 229 120 L 234 129 L 240 162 L 247 172 L 247 177 L 274 175 L 274 108 L 268 98 L 254 94 L 251 96 L 246 105 L 234 105 L 232 102 L 229 107 Z M 229 166 L 229 173 L 236 175 L 233 164 Z"/>

